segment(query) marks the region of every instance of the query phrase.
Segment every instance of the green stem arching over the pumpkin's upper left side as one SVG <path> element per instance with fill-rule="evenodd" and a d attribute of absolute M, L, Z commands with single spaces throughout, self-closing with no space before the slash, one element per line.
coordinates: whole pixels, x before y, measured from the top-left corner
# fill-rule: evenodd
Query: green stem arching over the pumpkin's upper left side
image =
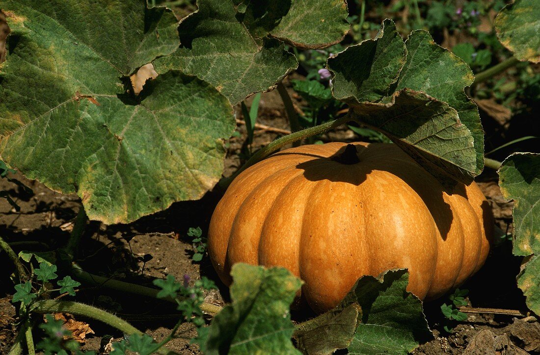
<path fill-rule="evenodd" d="M 242 167 L 235 172 L 231 177 L 221 179 L 219 182 L 219 186 L 223 189 L 226 189 L 232 182 L 232 180 L 237 177 L 242 171 L 249 168 L 249 166 L 260 162 L 262 159 L 266 158 L 267 156 L 271 155 L 273 152 L 279 150 L 281 147 L 284 147 L 287 144 L 291 144 L 296 141 L 303 140 L 304 138 L 316 136 L 318 134 L 325 133 L 326 131 L 329 131 L 330 129 L 336 128 L 341 126 L 342 124 L 347 123 L 348 121 L 352 121 L 352 119 L 349 117 L 349 115 L 343 116 L 340 119 L 325 122 L 322 124 L 319 124 L 319 126 L 310 127 L 303 129 L 298 132 L 293 132 L 289 135 L 286 135 L 284 137 L 278 138 L 272 143 L 268 144 L 266 147 L 259 149 L 255 154 L 249 158 L 249 160 L 242 165 Z"/>

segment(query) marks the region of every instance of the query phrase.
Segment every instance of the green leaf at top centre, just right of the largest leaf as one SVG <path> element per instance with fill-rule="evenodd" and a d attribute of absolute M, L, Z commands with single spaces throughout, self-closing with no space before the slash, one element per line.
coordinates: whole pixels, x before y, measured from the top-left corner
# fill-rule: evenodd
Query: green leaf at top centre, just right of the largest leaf
<path fill-rule="evenodd" d="M 338 43 L 349 29 L 347 6 L 335 0 L 198 0 L 178 27 L 181 46 L 153 62 L 199 76 L 235 105 L 273 89 L 297 66 L 282 41 L 308 48 Z M 242 5 L 242 6 L 240 6 Z M 309 11 L 306 11 L 309 9 Z"/>

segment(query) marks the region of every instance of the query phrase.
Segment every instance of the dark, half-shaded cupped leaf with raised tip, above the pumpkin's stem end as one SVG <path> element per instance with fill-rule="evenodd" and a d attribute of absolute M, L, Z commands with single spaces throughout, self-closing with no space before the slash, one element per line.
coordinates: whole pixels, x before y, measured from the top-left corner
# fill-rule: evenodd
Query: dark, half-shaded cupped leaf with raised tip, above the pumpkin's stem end
<path fill-rule="evenodd" d="M 405 60 L 405 46 L 396 25 L 386 19 L 375 39 L 349 46 L 328 59 L 334 71 L 332 93 L 342 101 L 376 101 L 388 96 Z"/>

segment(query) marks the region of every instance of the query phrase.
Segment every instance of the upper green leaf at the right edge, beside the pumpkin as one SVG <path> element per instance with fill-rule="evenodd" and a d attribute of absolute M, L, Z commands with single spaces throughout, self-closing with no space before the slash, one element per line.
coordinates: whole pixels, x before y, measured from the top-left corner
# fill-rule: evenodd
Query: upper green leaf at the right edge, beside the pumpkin
<path fill-rule="evenodd" d="M 514 153 L 499 170 L 505 199 L 514 199 L 515 255 L 540 254 L 540 154 Z"/>

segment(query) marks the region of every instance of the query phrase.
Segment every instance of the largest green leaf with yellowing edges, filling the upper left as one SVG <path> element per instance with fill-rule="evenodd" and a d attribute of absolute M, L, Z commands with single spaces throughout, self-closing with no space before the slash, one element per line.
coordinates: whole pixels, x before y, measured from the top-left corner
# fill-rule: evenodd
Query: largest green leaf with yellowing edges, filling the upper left
<path fill-rule="evenodd" d="M 179 72 L 139 98 L 123 82 L 178 46 L 176 18 L 145 0 L 2 2 L 11 34 L 0 73 L 0 155 L 91 219 L 129 222 L 202 196 L 219 179 L 226 98 Z"/>

